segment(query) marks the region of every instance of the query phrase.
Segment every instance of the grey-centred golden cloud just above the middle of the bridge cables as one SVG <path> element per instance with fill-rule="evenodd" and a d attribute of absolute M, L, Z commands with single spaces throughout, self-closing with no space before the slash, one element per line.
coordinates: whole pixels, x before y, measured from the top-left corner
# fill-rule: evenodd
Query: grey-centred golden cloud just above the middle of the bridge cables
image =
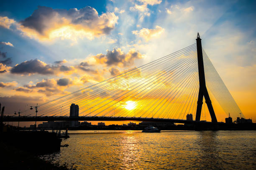
<path fill-rule="evenodd" d="M 130 66 L 133 65 L 135 59 L 143 58 L 143 55 L 132 48 L 127 54 L 125 54 L 120 48 L 107 50 L 107 54 L 97 54 L 94 56 L 98 64 L 106 64 L 107 66 L 119 65 Z"/>

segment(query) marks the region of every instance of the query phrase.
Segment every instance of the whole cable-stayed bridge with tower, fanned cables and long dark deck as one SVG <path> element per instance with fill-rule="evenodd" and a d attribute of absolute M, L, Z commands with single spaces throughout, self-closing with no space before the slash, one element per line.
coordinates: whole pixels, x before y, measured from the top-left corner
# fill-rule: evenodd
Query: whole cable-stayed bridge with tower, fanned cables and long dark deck
<path fill-rule="evenodd" d="M 2 120 L 198 123 L 206 104 L 211 122 L 217 123 L 208 90 L 227 115 L 244 117 L 197 34 L 195 44 Z M 79 105 L 77 117 L 69 117 L 72 103 Z M 185 120 L 187 114 L 194 119 Z"/>

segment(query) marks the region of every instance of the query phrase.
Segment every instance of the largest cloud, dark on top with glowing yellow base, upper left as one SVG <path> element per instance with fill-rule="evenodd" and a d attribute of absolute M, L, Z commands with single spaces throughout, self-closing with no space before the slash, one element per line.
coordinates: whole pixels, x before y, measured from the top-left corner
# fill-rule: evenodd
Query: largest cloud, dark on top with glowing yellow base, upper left
<path fill-rule="evenodd" d="M 38 40 L 61 38 L 76 41 L 83 37 L 92 40 L 109 34 L 117 21 L 114 13 L 98 15 L 97 10 L 89 6 L 80 10 L 38 6 L 30 17 L 20 22 L 19 29 L 24 35 Z"/>

